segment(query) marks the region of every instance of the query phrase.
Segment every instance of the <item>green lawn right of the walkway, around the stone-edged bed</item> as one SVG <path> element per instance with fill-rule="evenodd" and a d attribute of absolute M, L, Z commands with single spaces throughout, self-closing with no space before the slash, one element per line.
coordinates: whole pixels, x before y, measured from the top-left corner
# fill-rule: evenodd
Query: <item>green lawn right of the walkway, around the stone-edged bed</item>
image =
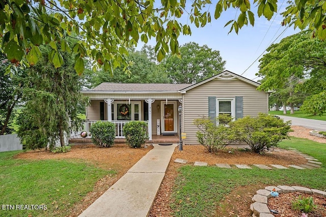
<path fill-rule="evenodd" d="M 296 148 L 326 164 L 326 144 L 291 138 L 280 144 L 282 148 Z M 171 208 L 175 216 L 217 216 L 216 207 L 236 187 L 262 183 L 267 185 L 300 185 L 326 189 L 326 168 L 313 170 L 252 170 L 222 169 L 218 167 L 180 168 L 172 194 Z"/>

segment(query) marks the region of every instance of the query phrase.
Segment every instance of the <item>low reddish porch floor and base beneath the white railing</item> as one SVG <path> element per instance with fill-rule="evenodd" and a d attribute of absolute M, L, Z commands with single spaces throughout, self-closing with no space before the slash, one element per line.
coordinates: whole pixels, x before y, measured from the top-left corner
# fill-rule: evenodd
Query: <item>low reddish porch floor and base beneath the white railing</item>
<path fill-rule="evenodd" d="M 115 139 L 114 143 L 125 143 L 125 139 Z M 152 135 L 152 140 L 147 140 L 146 143 L 178 143 L 178 135 Z M 92 144 L 91 138 L 75 138 L 69 140 L 70 144 Z"/>

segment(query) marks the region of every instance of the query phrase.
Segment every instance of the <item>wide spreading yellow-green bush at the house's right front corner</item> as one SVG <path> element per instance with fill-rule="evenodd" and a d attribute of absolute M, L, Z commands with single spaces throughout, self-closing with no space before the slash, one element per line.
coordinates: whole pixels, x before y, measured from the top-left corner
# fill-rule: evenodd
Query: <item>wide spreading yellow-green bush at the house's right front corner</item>
<path fill-rule="evenodd" d="M 247 116 L 231 122 L 230 127 L 239 142 L 247 143 L 253 152 L 261 153 L 289 138 L 290 122 L 259 114 L 255 118 Z"/>

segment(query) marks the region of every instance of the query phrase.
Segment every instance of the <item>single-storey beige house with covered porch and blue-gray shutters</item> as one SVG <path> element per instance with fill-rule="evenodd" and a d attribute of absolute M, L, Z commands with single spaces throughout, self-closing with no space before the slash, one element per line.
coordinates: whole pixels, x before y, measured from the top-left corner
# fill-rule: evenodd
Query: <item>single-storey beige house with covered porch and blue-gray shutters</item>
<path fill-rule="evenodd" d="M 86 130 L 96 121 L 116 124 L 116 138 L 124 138 L 128 121 L 148 122 L 149 140 L 157 135 L 186 133 L 184 144 L 198 144 L 194 119 L 230 114 L 235 119 L 268 112 L 268 93 L 256 83 L 224 71 L 197 84 L 102 83 L 83 91 L 91 100 L 86 111 Z M 178 108 L 182 108 L 179 118 Z"/>

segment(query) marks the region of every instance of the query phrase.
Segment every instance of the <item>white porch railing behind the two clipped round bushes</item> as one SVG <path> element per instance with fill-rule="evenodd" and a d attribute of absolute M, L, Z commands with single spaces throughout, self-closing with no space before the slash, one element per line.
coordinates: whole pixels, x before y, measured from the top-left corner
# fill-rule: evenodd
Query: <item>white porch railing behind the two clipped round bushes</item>
<path fill-rule="evenodd" d="M 70 135 L 70 138 L 71 139 L 82 138 L 82 137 L 80 137 L 80 133 L 82 131 L 86 131 L 88 133 L 87 138 L 92 138 L 90 129 L 91 129 L 92 124 L 94 124 L 96 122 L 97 121 L 85 121 L 84 128 L 80 129 L 80 130 L 78 130 L 76 132 L 72 132 L 71 135 Z M 102 121 L 102 122 L 107 122 L 107 121 Z M 114 123 L 116 125 L 116 138 L 117 139 L 124 139 L 125 136 L 124 136 L 124 133 L 123 133 L 123 126 L 126 123 L 131 122 L 131 121 L 110 121 L 110 122 L 112 122 L 112 123 Z M 144 121 L 144 122 L 148 123 L 148 121 Z M 148 129 L 147 129 L 147 131 L 148 131 Z"/>

